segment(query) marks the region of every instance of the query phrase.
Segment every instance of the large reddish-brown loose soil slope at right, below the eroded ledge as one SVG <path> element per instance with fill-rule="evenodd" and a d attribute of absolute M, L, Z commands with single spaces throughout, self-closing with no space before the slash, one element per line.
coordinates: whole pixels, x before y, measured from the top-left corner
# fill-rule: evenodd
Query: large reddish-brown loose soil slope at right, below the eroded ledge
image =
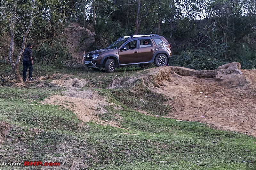
<path fill-rule="evenodd" d="M 256 137 L 255 82 L 256 70 L 223 74 L 220 79 L 171 72 L 169 80 L 162 79 L 158 87 L 151 89 L 172 98 L 167 102 L 173 107 L 169 118 Z"/>

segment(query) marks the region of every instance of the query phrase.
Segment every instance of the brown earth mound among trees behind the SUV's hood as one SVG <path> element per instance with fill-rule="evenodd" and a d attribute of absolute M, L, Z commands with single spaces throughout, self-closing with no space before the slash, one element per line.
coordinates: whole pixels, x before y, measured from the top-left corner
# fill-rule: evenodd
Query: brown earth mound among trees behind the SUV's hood
<path fill-rule="evenodd" d="M 83 27 L 79 23 L 70 23 L 65 30 L 67 35 L 68 51 L 72 54 L 77 63 L 81 63 L 84 51 L 87 52 L 89 46 L 94 41 L 94 33 Z M 79 42 L 86 36 L 84 44 Z"/>

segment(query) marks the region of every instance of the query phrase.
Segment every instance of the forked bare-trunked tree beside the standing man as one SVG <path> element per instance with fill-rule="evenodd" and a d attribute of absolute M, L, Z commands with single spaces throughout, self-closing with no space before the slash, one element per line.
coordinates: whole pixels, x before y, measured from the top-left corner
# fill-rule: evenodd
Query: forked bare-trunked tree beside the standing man
<path fill-rule="evenodd" d="M 11 35 L 10 50 L 9 50 L 9 62 L 12 67 L 12 72 L 14 74 L 16 82 L 22 82 L 22 77 L 19 73 L 20 58 L 25 49 L 26 39 L 28 33 L 31 30 L 33 20 L 34 20 L 34 5 L 35 0 L 32 2 L 25 1 L 27 4 L 23 4 L 24 1 L 20 2 L 18 0 L 1 0 L 1 14 L 3 14 L 3 19 L 9 21 L 8 29 Z M 18 11 L 19 9 L 19 11 Z M 18 53 L 17 59 L 14 62 L 14 45 L 15 36 L 17 34 L 18 28 L 20 27 L 22 32 L 22 46 L 20 52 Z"/>

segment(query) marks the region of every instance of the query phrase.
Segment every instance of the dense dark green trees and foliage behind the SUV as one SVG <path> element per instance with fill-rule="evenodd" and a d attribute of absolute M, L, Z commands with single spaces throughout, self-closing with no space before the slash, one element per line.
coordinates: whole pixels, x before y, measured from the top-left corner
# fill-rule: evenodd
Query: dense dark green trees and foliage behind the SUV
<path fill-rule="evenodd" d="M 5 6 L 6 2 L 12 1 L 0 1 L 4 7 L 8 6 Z M 20 0 L 17 4 L 17 14 L 26 16 L 28 5 Z M 95 41 L 89 50 L 106 47 L 118 37 L 132 35 L 135 31 L 138 34 L 159 33 L 167 38 L 174 55 L 180 55 L 183 51 L 203 50 L 205 55 L 220 63 L 242 62 L 243 68 L 255 68 L 253 54 L 241 58 L 241 44 L 247 44 L 252 52 L 256 50 L 255 6 L 255 0 L 37 0 L 34 24 L 27 38 L 39 51 L 46 48 L 44 43 L 52 46 L 53 42 L 62 39 L 61 34 L 68 22 L 79 22 L 84 26 L 93 25 Z M 0 8 L 1 14 L 3 9 Z M 138 28 L 137 16 L 140 21 Z M 29 18 L 22 19 L 26 21 Z M 1 35 L 6 35 L 9 21 L 0 18 Z M 21 46 L 24 28 L 24 23 L 17 23 L 17 48 Z M 79 45 L 86 40 L 85 35 Z M 75 48 L 79 49 L 79 46 Z"/>

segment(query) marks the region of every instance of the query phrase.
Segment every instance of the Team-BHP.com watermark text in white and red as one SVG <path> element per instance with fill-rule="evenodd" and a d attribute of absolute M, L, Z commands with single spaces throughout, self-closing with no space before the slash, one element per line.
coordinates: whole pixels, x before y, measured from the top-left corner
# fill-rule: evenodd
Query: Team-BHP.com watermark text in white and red
<path fill-rule="evenodd" d="M 41 162 L 41 161 L 25 161 L 21 162 L 6 162 L 1 161 L 1 166 L 60 166 L 60 162 Z"/>

